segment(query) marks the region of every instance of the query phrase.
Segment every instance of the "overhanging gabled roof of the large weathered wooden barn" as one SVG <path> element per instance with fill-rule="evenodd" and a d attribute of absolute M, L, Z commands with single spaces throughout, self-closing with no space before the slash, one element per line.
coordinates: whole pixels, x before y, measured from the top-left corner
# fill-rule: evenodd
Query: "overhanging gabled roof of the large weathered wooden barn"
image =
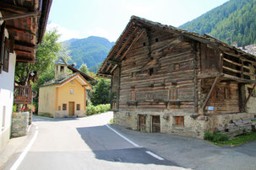
<path fill-rule="evenodd" d="M 123 33 L 119 36 L 116 41 L 116 44 L 112 47 L 106 59 L 102 62 L 101 67 L 97 71 L 98 77 L 111 77 L 112 72 L 117 68 L 118 64 L 123 61 L 128 50 L 139 40 L 139 37 L 147 29 L 161 29 L 163 31 L 168 31 L 170 34 L 180 36 L 181 38 L 188 38 L 190 40 L 199 41 L 208 45 L 211 45 L 215 48 L 218 48 L 221 51 L 226 51 L 229 53 L 234 53 L 236 55 L 241 55 L 243 57 L 248 57 L 249 59 L 255 60 L 255 56 L 246 53 L 240 49 L 237 49 L 234 46 L 227 45 L 221 40 L 217 40 L 215 37 L 210 35 L 199 35 L 197 33 L 188 32 L 184 29 L 177 29 L 171 25 L 164 25 L 150 21 L 148 19 L 142 19 L 137 16 L 132 16 L 128 22 L 126 28 L 123 30 Z"/>

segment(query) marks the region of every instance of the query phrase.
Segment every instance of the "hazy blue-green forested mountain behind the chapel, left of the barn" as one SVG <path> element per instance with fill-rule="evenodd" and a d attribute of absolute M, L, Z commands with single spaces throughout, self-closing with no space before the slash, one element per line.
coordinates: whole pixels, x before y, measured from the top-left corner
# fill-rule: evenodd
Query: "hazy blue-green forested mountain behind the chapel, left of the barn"
<path fill-rule="evenodd" d="M 114 42 L 97 36 L 63 42 L 63 45 L 70 50 L 71 62 L 76 63 L 75 67 L 79 68 L 83 63 L 86 63 L 90 72 L 97 71 L 114 44 Z"/>

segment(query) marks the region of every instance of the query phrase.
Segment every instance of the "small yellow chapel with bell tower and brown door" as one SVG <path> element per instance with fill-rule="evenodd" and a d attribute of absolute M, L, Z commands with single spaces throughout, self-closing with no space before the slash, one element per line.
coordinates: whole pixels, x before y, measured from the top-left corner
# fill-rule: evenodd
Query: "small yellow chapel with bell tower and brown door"
<path fill-rule="evenodd" d="M 71 70 L 72 74 L 67 74 Z M 55 63 L 55 78 L 39 88 L 38 114 L 53 117 L 83 117 L 86 114 L 87 91 L 92 77 L 67 64 L 60 57 Z"/>

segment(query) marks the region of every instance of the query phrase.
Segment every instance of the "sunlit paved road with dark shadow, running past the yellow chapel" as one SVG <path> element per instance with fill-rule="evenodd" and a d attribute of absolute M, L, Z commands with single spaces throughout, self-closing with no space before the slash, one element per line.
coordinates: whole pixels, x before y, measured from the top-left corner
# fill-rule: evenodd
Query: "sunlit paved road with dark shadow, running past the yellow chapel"
<path fill-rule="evenodd" d="M 34 117 L 38 135 L 18 169 L 183 169 L 124 140 L 106 126 L 111 119 L 112 113 L 79 119 Z M 10 169 L 19 156 L 3 169 Z"/>

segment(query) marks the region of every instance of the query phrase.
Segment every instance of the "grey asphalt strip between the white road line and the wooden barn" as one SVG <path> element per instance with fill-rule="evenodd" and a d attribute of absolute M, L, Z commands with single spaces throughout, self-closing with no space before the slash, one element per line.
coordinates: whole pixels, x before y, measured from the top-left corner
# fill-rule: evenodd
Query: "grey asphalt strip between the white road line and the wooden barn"
<path fill-rule="evenodd" d="M 111 125 L 111 127 L 139 146 L 146 147 L 182 167 L 218 170 L 255 169 L 256 167 L 254 153 L 256 141 L 238 147 L 221 147 L 193 137 L 142 133 L 125 129 L 120 125 Z"/>

